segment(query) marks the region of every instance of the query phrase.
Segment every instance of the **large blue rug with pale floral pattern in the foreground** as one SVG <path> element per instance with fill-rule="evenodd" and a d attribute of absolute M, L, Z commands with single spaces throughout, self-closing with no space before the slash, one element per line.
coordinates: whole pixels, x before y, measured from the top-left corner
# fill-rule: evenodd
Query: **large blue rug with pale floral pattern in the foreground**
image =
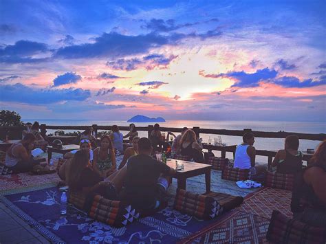
<path fill-rule="evenodd" d="M 219 218 L 202 221 L 187 214 L 165 208 L 151 217 L 124 228 L 89 219 L 85 212 L 68 206 L 68 214 L 60 214 L 58 188 L 45 188 L 30 192 L 14 193 L 1 201 L 53 243 L 175 243 L 194 234 Z"/>

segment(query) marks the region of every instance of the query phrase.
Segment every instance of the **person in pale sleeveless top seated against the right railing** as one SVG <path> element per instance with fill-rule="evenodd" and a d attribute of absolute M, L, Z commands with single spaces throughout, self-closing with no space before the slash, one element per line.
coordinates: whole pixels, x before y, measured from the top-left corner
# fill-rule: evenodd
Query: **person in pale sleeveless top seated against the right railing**
<path fill-rule="evenodd" d="M 235 150 L 234 168 L 250 169 L 251 175 L 260 175 L 265 171 L 265 166 L 256 165 L 256 149 L 254 148 L 254 134 L 245 133 L 242 137 L 243 143 Z"/>

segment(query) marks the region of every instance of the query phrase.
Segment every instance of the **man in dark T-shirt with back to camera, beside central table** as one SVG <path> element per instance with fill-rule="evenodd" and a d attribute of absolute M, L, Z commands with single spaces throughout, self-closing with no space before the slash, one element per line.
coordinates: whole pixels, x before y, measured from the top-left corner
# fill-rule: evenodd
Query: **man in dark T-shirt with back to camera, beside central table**
<path fill-rule="evenodd" d="M 144 211 L 163 207 L 162 195 L 169 187 L 169 175 L 175 170 L 151 157 L 153 147 L 149 139 L 142 137 L 138 142 L 139 154 L 128 160 L 126 184 L 121 199 Z M 162 195 L 161 195 L 162 194 Z"/>

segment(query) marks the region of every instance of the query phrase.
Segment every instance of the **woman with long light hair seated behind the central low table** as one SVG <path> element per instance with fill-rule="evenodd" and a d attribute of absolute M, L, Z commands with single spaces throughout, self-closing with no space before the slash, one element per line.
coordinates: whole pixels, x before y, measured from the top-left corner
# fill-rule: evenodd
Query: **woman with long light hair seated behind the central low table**
<path fill-rule="evenodd" d="M 188 129 L 184 132 L 184 135 L 182 135 L 177 153 L 190 157 L 194 162 L 204 163 L 202 149 L 202 144 L 199 144 L 196 140 L 195 131 Z"/>

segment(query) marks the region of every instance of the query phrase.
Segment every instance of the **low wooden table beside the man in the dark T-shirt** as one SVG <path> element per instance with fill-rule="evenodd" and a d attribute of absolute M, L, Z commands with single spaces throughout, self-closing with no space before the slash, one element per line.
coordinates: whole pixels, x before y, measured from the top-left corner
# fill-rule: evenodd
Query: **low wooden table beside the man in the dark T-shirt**
<path fill-rule="evenodd" d="M 177 188 L 186 190 L 186 179 L 197 175 L 205 174 L 206 192 L 210 192 L 210 164 L 199 164 L 195 162 L 188 162 L 184 160 L 169 159 L 166 164 L 171 168 L 175 168 L 175 161 L 178 164 L 184 164 L 183 170 L 177 170 L 173 178 L 177 179 Z"/>

